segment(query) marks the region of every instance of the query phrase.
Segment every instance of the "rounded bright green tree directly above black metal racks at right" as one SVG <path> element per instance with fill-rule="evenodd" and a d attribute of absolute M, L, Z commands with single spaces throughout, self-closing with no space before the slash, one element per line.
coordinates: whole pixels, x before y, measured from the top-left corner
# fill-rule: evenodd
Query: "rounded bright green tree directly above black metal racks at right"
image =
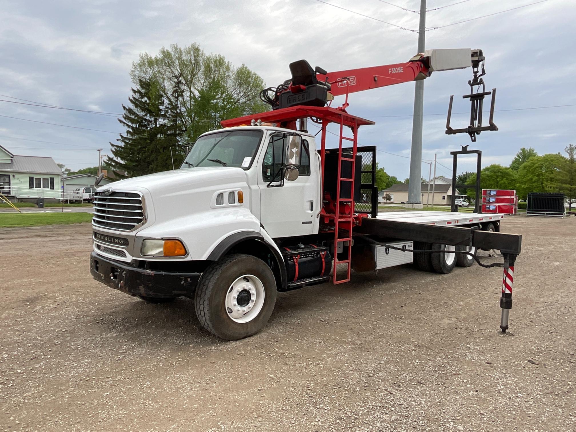
<path fill-rule="evenodd" d="M 559 172 L 564 158 L 559 153 L 532 156 L 518 169 L 517 193 L 526 199 L 529 192 L 558 192 Z"/>

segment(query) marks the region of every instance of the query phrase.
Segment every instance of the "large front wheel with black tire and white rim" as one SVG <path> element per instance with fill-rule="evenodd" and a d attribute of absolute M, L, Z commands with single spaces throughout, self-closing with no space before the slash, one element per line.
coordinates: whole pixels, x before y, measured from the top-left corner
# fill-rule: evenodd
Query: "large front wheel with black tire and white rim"
<path fill-rule="evenodd" d="M 276 304 L 276 281 L 262 260 L 235 253 L 203 272 L 194 306 L 200 324 L 226 340 L 247 338 L 266 326 Z"/>

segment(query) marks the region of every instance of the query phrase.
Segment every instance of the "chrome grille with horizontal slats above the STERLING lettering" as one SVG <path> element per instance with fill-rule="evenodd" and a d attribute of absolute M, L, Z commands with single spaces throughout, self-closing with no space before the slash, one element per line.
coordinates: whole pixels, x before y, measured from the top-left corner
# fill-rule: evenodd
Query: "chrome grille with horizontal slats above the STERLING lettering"
<path fill-rule="evenodd" d="M 137 192 L 94 194 L 92 224 L 118 231 L 131 231 L 144 222 L 144 203 Z"/>

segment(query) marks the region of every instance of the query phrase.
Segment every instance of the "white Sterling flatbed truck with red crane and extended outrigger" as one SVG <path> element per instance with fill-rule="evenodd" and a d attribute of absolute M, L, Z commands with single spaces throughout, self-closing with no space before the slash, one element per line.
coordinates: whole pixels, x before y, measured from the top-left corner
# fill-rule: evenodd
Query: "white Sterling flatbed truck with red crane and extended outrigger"
<path fill-rule="evenodd" d="M 328 74 L 305 60 L 292 63 L 292 78 L 261 95 L 272 111 L 223 121 L 196 140 L 180 169 L 98 188 L 92 276 L 152 303 L 193 298 L 200 323 L 234 340 L 266 325 L 276 291 L 348 282 L 351 269 L 409 263 L 446 274 L 475 260 L 485 266 L 476 250 L 498 249 L 503 263 L 490 267 L 504 268 L 506 331 L 521 236 L 499 233 L 498 214 L 378 215 L 376 147 L 358 146 L 358 128 L 373 122 L 346 112 L 354 85 L 363 90 L 392 84 L 389 75 L 406 82 L 474 66 L 478 51 L 467 55 L 467 63 L 444 69 L 430 52 L 365 68 L 371 71 Z M 325 106 L 339 94 L 346 95 L 341 107 Z M 318 141 L 308 121 L 318 124 Z M 332 149 L 329 123 L 340 130 Z"/>

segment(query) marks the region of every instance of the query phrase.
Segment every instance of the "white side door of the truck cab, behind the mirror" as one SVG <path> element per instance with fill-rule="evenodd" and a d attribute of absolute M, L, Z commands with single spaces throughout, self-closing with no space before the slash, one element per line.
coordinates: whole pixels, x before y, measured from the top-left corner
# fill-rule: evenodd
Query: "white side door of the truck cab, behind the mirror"
<path fill-rule="evenodd" d="M 298 178 L 282 182 L 283 138 L 272 135 L 259 161 L 260 222 L 272 238 L 294 237 L 317 231 L 320 197 L 316 173 L 312 173 L 309 142 L 302 138 Z"/>

